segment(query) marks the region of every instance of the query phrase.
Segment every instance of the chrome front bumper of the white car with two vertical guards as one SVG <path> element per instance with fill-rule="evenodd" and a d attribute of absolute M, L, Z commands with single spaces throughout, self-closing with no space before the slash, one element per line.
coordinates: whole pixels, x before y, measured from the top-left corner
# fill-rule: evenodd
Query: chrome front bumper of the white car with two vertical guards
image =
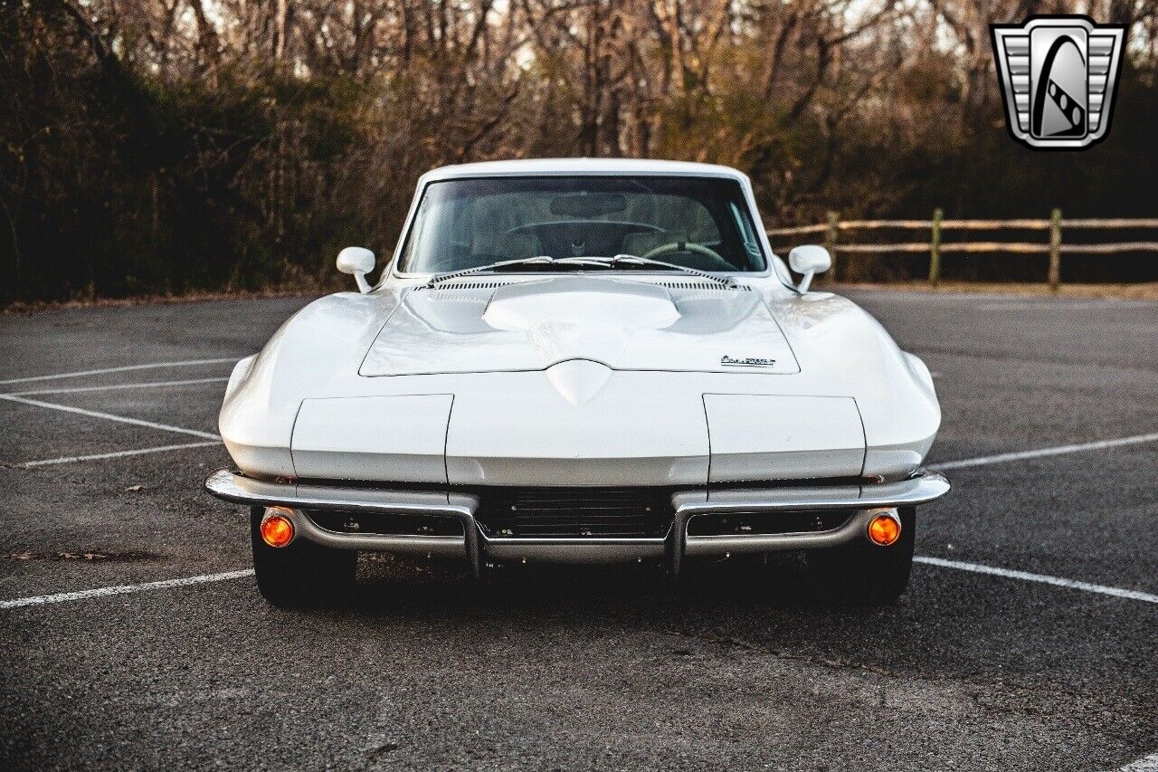
<path fill-rule="evenodd" d="M 679 574 L 686 556 L 723 558 L 831 547 L 866 538 L 865 529 L 873 510 L 924 504 L 948 493 L 950 485 L 943 474 L 919 471 L 897 482 L 680 491 L 672 496 L 674 518 L 668 534 L 662 538 L 492 538 L 475 520 L 478 496 L 464 493 L 266 482 L 229 469 L 213 472 L 205 480 L 205 489 L 235 504 L 292 509 L 298 534 L 328 547 L 462 555 L 471 574 L 477 576 L 488 560 L 598 563 L 666 559 L 672 573 Z M 321 527 L 302 510 L 450 517 L 462 523 L 463 536 L 337 532 Z M 706 515 L 828 510 L 849 510 L 852 516 L 843 525 L 828 531 L 727 536 L 688 533 L 689 522 Z"/>

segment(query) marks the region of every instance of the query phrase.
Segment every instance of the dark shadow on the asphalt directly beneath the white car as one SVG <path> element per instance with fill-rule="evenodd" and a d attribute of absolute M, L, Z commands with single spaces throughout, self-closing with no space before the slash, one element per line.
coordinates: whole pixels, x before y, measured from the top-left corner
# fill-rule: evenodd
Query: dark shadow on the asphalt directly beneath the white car
<path fill-rule="evenodd" d="M 563 624 L 623 622 L 670 631 L 676 622 L 689 622 L 740 633 L 753 632 L 758 620 L 792 617 L 827 619 L 846 628 L 906 605 L 903 597 L 895 606 L 835 603 L 809 581 L 802 556 L 780 554 L 767 561 L 692 563 L 677 580 L 659 565 L 511 565 L 486 570 L 474 582 L 455 565 L 364 560 L 354 592 L 342 609 L 365 619 L 520 619 L 551 627 L 563 614 Z"/>

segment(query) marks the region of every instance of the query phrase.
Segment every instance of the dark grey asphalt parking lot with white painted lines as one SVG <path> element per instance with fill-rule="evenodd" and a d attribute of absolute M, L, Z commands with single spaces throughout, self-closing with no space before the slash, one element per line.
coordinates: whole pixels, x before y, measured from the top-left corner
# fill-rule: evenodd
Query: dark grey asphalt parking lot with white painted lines
<path fill-rule="evenodd" d="M 954 483 L 873 610 L 792 556 L 364 559 L 276 610 L 200 482 L 306 300 L 0 316 L 0 767 L 1158 770 L 1158 304 L 851 294 L 933 371 Z"/>

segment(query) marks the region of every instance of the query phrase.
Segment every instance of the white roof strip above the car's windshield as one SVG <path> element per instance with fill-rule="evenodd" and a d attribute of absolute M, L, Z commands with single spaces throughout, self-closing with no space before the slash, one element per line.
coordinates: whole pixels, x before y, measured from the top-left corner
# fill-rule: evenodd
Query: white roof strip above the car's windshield
<path fill-rule="evenodd" d="M 455 177 L 554 176 L 554 175 L 672 175 L 731 177 L 746 182 L 747 175 L 727 166 L 689 161 L 654 161 L 623 158 L 542 158 L 511 161 L 482 161 L 432 169 L 419 184 Z"/>

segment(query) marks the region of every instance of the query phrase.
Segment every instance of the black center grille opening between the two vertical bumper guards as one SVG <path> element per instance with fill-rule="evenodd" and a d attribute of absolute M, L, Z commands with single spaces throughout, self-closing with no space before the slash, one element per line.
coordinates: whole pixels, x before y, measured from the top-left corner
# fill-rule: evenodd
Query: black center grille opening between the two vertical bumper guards
<path fill-rule="evenodd" d="M 494 539 L 664 537 L 672 491 L 617 488 L 496 488 L 481 491 L 476 518 Z"/>

